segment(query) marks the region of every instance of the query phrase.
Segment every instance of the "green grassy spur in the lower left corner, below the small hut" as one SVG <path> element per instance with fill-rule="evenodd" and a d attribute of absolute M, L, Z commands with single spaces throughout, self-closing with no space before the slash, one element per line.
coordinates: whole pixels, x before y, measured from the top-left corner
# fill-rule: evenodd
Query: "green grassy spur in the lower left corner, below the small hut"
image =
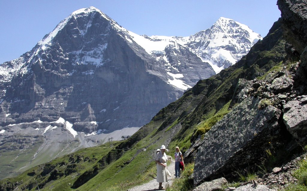
<path fill-rule="evenodd" d="M 67 190 L 77 174 L 93 168 L 97 161 L 111 150 L 106 146 L 81 149 L 73 154 L 35 166 L 17 177 L 2 180 L 2 187 L 8 183 L 8 187 L 14 188 L 14 183 L 19 182 L 22 183 L 20 187 L 24 187 L 24 190 L 36 190 L 37 184 L 42 188 L 48 184 L 52 185 L 54 182 L 54 185 L 59 187 L 57 190 Z M 53 178 L 50 178 L 51 174 L 53 174 Z M 10 186 L 10 183 L 13 185 Z"/>

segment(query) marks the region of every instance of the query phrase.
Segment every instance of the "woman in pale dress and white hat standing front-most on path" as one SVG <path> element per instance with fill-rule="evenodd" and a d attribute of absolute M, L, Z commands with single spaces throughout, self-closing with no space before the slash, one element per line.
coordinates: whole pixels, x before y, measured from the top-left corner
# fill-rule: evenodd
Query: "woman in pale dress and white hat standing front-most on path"
<path fill-rule="evenodd" d="M 162 182 L 167 182 L 167 156 L 165 154 L 165 151 L 165 146 L 162 145 L 160 148 L 160 152 L 158 152 L 155 157 L 157 163 L 157 182 L 159 182 L 159 190 L 165 190 L 165 188 L 162 187 Z"/>

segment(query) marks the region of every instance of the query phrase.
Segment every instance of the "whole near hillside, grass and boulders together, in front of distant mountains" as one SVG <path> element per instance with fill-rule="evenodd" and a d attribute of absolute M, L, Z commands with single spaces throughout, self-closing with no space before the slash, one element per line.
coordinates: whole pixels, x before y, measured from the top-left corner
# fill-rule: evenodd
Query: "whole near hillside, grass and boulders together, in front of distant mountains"
<path fill-rule="evenodd" d="M 236 172 L 246 175 L 259 168 L 267 171 L 259 177 L 262 185 L 254 181 L 227 190 L 271 190 L 275 189 L 272 185 L 297 182 L 288 170 L 293 157 L 300 156 L 307 134 L 307 39 L 302 32 L 307 25 L 306 5 L 305 0 L 278 0 L 282 18 L 246 56 L 198 81 L 115 149 L 105 149 L 106 153 L 100 147 L 79 150 L 3 180 L 0 188 L 108 190 L 120 182 L 115 187 L 127 189 L 133 186 L 131 182 L 140 183 L 146 173 L 156 169 L 153 156 L 162 144 L 169 155 L 179 146 L 185 163 L 194 162 L 193 176 L 189 177 L 194 190 L 236 180 Z M 56 124 L 71 127 L 61 119 L 49 128 Z M 26 139 L 20 138 L 22 141 Z M 207 182 L 213 179 L 217 180 Z"/>

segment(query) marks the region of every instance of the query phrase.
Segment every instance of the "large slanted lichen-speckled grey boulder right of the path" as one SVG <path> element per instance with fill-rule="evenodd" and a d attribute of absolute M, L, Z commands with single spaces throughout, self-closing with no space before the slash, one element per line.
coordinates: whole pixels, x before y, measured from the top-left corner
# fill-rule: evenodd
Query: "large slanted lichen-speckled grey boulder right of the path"
<path fill-rule="evenodd" d="M 279 136 L 281 111 L 275 107 L 259 110 L 259 103 L 258 98 L 245 99 L 205 134 L 195 159 L 195 185 L 229 175 L 233 166 L 253 164 L 269 140 Z"/>

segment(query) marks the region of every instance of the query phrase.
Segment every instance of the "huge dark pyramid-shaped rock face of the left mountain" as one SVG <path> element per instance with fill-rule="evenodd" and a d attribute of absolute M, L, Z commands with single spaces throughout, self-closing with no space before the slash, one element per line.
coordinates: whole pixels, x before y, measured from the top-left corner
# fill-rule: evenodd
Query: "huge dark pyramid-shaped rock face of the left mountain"
<path fill-rule="evenodd" d="M 2 115 L 14 123 L 62 116 L 98 122 L 91 132 L 114 131 L 141 127 L 175 101 L 183 92 L 161 78 L 159 63 L 137 55 L 107 19 L 98 11 L 73 14 L 23 55 L 25 72 L 6 88 Z"/>

